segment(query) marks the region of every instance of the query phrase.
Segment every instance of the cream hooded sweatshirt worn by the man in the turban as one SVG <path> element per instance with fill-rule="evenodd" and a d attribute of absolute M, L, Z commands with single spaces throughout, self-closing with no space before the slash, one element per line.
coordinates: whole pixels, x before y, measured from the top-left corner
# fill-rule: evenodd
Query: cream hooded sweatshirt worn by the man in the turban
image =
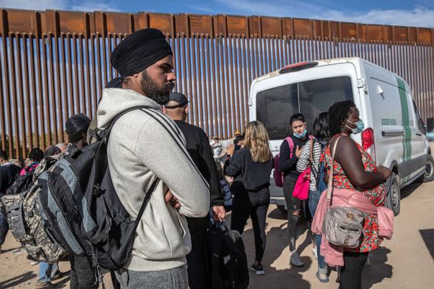
<path fill-rule="evenodd" d="M 191 250 L 187 217 L 203 217 L 209 210 L 209 187 L 186 150 L 178 126 L 161 106 L 136 91 L 106 88 L 98 106 L 98 128 L 106 129 L 122 111 L 136 106 L 114 124 L 108 145 L 113 186 L 126 211 L 136 218 L 145 192 L 158 178 L 155 191 L 136 230 L 128 270 L 158 271 L 186 264 Z M 181 208 L 164 201 L 170 188 Z"/>

